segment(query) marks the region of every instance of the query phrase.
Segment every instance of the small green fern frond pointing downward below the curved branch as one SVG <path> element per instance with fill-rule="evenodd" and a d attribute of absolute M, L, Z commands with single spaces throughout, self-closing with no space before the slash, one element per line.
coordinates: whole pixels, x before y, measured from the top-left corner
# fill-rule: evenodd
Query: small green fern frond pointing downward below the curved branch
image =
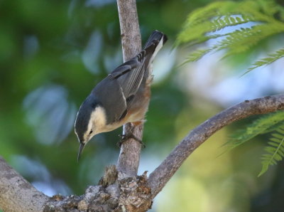
<path fill-rule="evenodd" d="M 271 142 L 268 142 L 269 146 L 264 150 L 267 152 L 261 157 L 262 169 L 258 176 L 264 174 L 268 167 L 277 164 L 278 161 L 283 160 L 284 157 L 284 127 L 277 129 L 277 133 L 273 133 Z"/>

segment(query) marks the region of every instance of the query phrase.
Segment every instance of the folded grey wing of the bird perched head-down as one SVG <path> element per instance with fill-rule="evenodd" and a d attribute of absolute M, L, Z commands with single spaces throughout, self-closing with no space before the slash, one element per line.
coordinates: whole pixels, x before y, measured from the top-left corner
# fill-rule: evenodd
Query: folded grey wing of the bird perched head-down
<path fill-rule="evenodd" d="M 107 124 L 127 115 L 127 106 L 136 94 L 144 73 L 145 51 L 123 63 L 104 78 L 92 91 L 106 108 Z"/>

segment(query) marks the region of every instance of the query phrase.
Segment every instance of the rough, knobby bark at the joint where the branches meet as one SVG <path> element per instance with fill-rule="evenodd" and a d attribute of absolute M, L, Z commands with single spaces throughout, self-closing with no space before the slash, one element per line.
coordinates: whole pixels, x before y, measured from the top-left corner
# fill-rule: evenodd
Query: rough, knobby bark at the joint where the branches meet
<path fill-rule="evenodd" d="M 82 196 L 50 198 L 44 211 L 147 211 L 151 208 L 151 190 L 146 186 L 146 174 L 121 177 L 116 166 L 107 167 L 97 186 L 89 186 Z"/>

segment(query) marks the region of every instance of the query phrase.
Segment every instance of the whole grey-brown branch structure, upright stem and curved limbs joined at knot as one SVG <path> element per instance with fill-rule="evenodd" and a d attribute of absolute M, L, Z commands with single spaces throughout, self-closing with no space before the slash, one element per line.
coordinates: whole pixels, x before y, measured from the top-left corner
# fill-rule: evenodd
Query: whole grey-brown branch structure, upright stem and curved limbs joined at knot
<path fill-rule="evenodd" d="M 124 61 L 141 51 L 141 34 L 135 0 L 117 0 L 121 26 Z M 98 186 L 89 186 L 82 196 L 45 196 L 14 171 L 0 157 L 0 206 L 4 211 L 147 211 L 153 198 L 163 189 L 182 162 L 222 127 L 250 115 L 284 110 L 284 95 L 246 100 L 220 112 L 192 129 L 150 176 L 137 175 L 141 144 L 128 139 L 121 145 L 115 166 L 109 167 Z M 142 138 L 143 124 L 124 125 L 129 132 Z M 130 176 L 125 178 L 124 176 Z"/>

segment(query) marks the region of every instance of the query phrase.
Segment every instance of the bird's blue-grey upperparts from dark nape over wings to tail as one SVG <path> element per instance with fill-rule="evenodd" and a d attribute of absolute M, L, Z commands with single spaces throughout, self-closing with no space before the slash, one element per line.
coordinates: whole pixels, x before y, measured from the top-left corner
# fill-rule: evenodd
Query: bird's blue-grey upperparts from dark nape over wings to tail
<path fill-rule="evenodd" d="M 163 43 L 160 43 L 161 41 L 165 43 L 167 41 L 166 36 L 159 31 L 154 31 L 146 42 L 143 51 L 126 63 L 119 65 L 107 78 L 97 84 L 80 107 L 75 123 L 77 133 L 87 130 L 89 117 L 97 105 L 104 107 L 107 124 L 118 122 L 126 116 L 136 92 L 143 90 L 142 86 L 146 86 L 145 82 L 151 75 L 151 73 L 148 73 L 149 63 L 155 56 L 156 47 L 159 44 L 163 46 Z M 81 112 L 81 110 L 84 110 L 84 112 Z"/>

